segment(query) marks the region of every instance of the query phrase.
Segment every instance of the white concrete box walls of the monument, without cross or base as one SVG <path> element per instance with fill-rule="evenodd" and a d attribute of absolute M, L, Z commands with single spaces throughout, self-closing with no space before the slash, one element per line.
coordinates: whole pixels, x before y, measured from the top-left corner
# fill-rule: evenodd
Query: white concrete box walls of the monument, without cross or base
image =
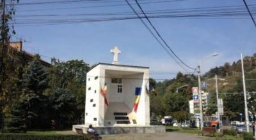
<path fill-rule="evenodd" d="M 96 76 L 98 78 L 95 80 Z M 112 77 L 123 78 L 122 84 L 111 83 Z M 99 64 L 87 73 L 85 125 L 104 126 L 108 106 L 100 94 L 100 86 L 103 88 L 105 83 L 108 87 L 107 99 L 109 104 L 111 102 L 124 102 L 131 109 L 131 112 L 134 106 L 135 88 L 141 87 L 140 103 L 134 114 L 137 125 L 150 124 L 149 96 L 145 92 L 145 87 L 148 86 L 148 68 Z M 123 86 L 122 93 L 117 92 L 117 85 Z M 93 107 L 93 104 L 96 106 Z M 93 118 L 97 118 L 97 120 L 95 121 Z"/>

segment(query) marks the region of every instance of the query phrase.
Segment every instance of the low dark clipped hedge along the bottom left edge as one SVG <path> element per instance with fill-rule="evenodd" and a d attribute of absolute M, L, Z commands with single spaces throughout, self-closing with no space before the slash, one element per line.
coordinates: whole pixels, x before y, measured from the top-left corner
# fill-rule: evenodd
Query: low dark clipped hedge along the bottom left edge
<path fill-rule="evenodd" d="M 88 140 L 80 135 L 33 135 L 33 134 L 0 134 L 1 140 Z"/>

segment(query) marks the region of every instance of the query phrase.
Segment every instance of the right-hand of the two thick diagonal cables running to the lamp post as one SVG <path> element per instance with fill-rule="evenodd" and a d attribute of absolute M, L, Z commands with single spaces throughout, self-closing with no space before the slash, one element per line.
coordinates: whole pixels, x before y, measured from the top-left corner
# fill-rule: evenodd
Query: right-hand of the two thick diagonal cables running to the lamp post
<path fill-rule="evenodd" d="M 195 70 L 195 68 L 189 67 L 186 63 L 184 63 L 182 60 L 180 60 L 180 58 L 173 52 L 173 50 L 170 48 L 170 46 L 166 43 L 166 41 L 162 38 L 162 36 L 159 34 L 159 32 L 157 31 L 156 27 L 154 27 L 154 25 L 152 24 L 152 22 L 149 20 L 149 18 L 147 17 L 147 15 L 145 14 L 145 12 L 143 11 L 143 9 L 140 6 L 140 3 L 138 3 L 137 0 L 136 4 L 139 6 L 140 10 L 142 11 L 143 15 L 145 16 L 145 18 L 148 20 L 149 24 L 151 25 L 151 27 L 154 29 L 154 31 L 156 31 L 157 36 L 159 36 L 159 38 L 163 41 L 164 45 L 167 46 L 167 48 L 173 53 L 173 55 L 182 63 L 184 64 L 186 67 L 188 67 L 189 69 L 193 69 Z"/>

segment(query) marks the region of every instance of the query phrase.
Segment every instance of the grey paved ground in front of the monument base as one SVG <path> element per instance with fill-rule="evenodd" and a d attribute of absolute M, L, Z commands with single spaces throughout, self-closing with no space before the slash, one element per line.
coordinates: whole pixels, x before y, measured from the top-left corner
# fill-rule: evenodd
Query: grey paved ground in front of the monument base
<path fill-rule="evenodd" d="M 203 140 L 204 137 L 196 134 L 185 134 L 179 132 L 166 132 L 164 134 L 118 134 L 118 135 L 102 135 L 104 140 Z"/>

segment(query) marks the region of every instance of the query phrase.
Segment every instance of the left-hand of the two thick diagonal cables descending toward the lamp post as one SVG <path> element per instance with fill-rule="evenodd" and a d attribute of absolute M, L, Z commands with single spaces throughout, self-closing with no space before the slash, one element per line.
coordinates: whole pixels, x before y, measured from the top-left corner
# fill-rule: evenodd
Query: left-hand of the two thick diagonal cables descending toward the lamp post
<path fill-rule="evenodd" d="M 150 34 L 152 34 L 152 36 L 154 36 L 154 38 L 157 40 L 157 42 L 162 46 L 162 48 L 170 55 L 170 57 L 172 57 L 172 59 L 186 72 L 188 72 L 186 70 L 185 67 L 183 67 L 176 59 L 175 57 L 173 57 L 173 55 L 166 49 L 166 47 L 163 45 L 163 43 L 161 43 L 161 41 L 156 37 L 156 35 L 154 34 L 154 32 L 151 31 L 151 29 L 148 27 L 148 25 L 140 18 L 140 15 L 138 15 L 138 13 L 134 10 L 134 8 L 131 6 L 131 4 L 129 3 L 129 1 L 125 0 L 126 3 L 130 6 L 130 8 L 132 9 L 132 11 L 134 11 L 134 13 L 137 15 L 137 17 L 140 19 L 140 21 L 142 22 L 142 24 L 148 29 L 148 31 L 150 32 Z"/>

